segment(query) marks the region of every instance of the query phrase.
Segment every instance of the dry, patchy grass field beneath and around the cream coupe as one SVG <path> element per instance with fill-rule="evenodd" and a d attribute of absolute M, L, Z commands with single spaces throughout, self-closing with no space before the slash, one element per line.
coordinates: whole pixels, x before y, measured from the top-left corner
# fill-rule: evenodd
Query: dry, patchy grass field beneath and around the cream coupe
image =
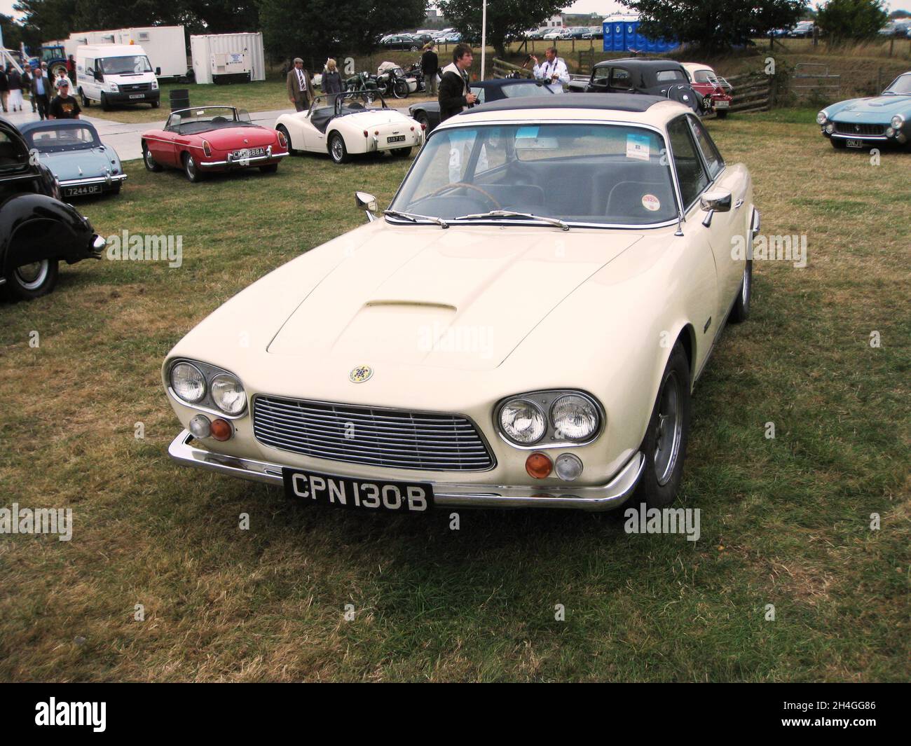
<path fill-rule="evenodd" d="M 751 169 L 763 233 L 809 253 L 755 263 L 752 318 L 694 394 L 695 543 L 619 515 L 463 512 L 451 531 L 173 465 L 171 345 L 359 225 L 354 189 L 388 204 L 409 161 L 198 185 L 129 163 L 119 197 L 80 207 L 104 235 L 179 234 L 179 269 L 85 261 L 0 303 L 0 506 L 74 516 L 68 542 L 0 536 L 0 680 L 907 680 L 911 154 L 836 152 L 814 113 L 708 125 Z"/>

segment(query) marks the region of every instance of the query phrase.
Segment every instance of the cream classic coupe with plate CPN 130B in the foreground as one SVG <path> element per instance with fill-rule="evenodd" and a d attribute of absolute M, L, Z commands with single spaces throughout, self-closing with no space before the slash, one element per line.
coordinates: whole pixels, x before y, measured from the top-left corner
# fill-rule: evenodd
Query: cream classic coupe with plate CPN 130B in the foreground
<path fill-rule="evenodd" d="M 447 119 L 382 216 L 358 192 L 365 225 L 189 332 L 170 455 L 352 509 L 670 504 L 752 182 L 681 104 L 554 98 Z"/>

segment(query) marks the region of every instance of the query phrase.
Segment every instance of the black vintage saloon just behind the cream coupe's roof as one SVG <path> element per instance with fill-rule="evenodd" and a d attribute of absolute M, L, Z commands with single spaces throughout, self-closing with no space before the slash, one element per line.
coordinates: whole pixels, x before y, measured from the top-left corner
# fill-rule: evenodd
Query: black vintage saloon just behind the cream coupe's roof
<path fill-rule="evenodd" d="M 606 59 L 591 71 L 588 80 L 570 80 L 569 93 L 644 93 L 679 101 L 697 114 L 711 108 L 711 99 L 690 85 L 690 78 L 679 62 L 670 59 L 629 57 Z"/>

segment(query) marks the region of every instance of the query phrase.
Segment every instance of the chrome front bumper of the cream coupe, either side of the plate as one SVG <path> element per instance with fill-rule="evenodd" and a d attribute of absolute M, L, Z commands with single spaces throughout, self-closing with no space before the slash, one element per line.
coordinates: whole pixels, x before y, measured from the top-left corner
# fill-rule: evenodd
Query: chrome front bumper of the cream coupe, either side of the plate
<path fill-rule="evenodd" d="M 251 458 L 215 454 L 191 445 L 193 435 L 182 431 L 168 448 L 171 458 L 184 466 L 262 482 L 283 485 L 281 464 L 256 461 Z M 296 467 L 292 467 L 296 468 Z M 434 502 L 445 507 L 559 507 L 576 510 L 613 510 L 632 495 L 645 468 L 645 456 L 634 455 L 606 485 L 566 487 L 555 485 L 469 485 L 446 482 L 429 484 L 434 488 Z M 365 480 L 369 481 L 369 480 Z M 393 480 L 390 480 L 393 481 Z M 420 481 L 420 480 L 418 480 Z"/>

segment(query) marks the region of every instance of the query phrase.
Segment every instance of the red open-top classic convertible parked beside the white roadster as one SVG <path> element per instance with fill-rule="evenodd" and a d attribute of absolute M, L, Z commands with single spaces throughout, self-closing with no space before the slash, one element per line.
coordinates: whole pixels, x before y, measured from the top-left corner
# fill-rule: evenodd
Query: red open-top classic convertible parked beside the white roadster
<path fill-rule="evenodd" d="M 142 134 L 142 158 L 149 171 L 183 169 L 190 181 L 209 171 L 259 167 L 274 173 L 288 155 L 281 132 L 254 125 L 234 107 L 192 107 L 171 112 L 164 129 Z"/>

